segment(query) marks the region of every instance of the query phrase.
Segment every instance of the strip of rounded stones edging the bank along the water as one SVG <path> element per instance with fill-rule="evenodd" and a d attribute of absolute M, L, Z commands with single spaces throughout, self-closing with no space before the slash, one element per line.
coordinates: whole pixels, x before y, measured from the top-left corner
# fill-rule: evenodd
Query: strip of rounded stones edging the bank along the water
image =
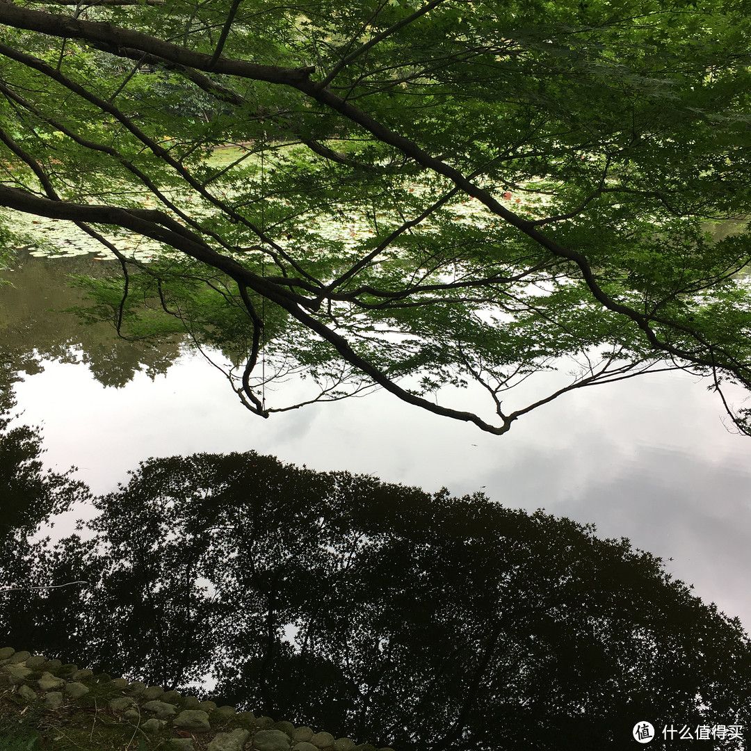
<path fill-rule="evenodd" d="M 357 745 L 349 738 L 334 738 L 327 732 L 295 727 L 291 722 L 274 722 L 252 712 L 236 712 L 234 707 L 217 707 L 213 701 L 199 701 L 160 686 L 140 681 L 95 675 L 77 665 L 63 665 L 59 659 L 0 649 L 0 688 L 10 688 L 17 697 L 32 704 L 42 702 L 47 710 L 74 704 L 95 690 L 104 695 L 107 711 L 147 737 L 167 737 L 169 751 L 394 751 L 377 749 L 369 743 Z M 240 725 L 229 732 L 221 725 Z M 182 736 L 182 737 L 179 737 Z M 187 736 L 187 737 L 185 737 Z M 198 737 L 196 737 L 198 736 Z M 196 746 L 200 739 L 200 745 Z M 208 744 L 204 745 L 204 741 Z M 155 738 L 156 740 L 156 738 Z"/>

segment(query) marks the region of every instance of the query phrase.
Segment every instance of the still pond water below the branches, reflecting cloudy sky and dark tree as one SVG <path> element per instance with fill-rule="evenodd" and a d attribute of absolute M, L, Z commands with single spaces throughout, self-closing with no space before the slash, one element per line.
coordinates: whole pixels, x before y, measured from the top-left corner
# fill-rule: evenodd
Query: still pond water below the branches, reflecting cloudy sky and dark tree
<path fill-rule="evenodd" d="M 144 349 L 50 311 L 78 299 L 62 273 L 106 268 L 29 258 L 0 287 L 0 353 L 44 461 L 95 494 L 128 483 L 95 499 L 98 547 L 11 564 L 20 581 L 86 582 L 2 593 L 15 647 L 397 751 L 630 747 L 646 718 L 749 726 L 734 624 L 626 547 L 499 506 L 630 538 L 748 629 L 751 442 L 703 383 L 579 389 L 500 437 L 383 392 L 261 420 L 181 342 Z"/>

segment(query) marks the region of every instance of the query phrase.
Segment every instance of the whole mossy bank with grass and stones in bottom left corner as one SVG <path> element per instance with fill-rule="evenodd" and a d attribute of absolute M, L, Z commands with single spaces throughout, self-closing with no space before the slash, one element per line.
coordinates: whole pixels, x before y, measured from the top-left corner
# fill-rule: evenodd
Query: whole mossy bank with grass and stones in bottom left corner
<path fill-rule="evenodd" d="M 0 649 L 0 751 L 393 751 Z"/>

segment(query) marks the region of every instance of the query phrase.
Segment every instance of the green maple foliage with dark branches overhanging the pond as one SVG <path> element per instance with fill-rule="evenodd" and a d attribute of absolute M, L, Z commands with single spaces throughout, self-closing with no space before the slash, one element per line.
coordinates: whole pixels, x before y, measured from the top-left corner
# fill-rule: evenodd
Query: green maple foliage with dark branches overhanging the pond
<path fill-rule="evenodd" d="M 21 0 L 3 201 L 158 256 L 87 315 L 245 359 L 264 416 L 293 374 L 493 433 L 572 363 L 562 391 L 671 367 L 748 389 L 751 240 L 705 232 L 751 201 L 745 5 L 104 3 L 63 33 Z M 490 417 L 436 406 L 464 385 Z"/>

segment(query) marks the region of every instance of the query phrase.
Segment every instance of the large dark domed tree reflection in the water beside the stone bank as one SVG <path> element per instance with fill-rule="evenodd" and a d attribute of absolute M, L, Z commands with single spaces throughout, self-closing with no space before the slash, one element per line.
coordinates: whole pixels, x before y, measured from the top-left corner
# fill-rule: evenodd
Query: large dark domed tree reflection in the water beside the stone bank
<path fill-rule="evenodd" d="M 183 690 L 210 673 L 237 706 L 395 749 L 749 724 L 740 623 L 572 520 L 252 452 L 149 460 L 95 505 L 95 538 L 32 567 L 92 585 L 5 608 L 11 643 Z M 29 630 L 51 614 L 65 647 Z"/>

